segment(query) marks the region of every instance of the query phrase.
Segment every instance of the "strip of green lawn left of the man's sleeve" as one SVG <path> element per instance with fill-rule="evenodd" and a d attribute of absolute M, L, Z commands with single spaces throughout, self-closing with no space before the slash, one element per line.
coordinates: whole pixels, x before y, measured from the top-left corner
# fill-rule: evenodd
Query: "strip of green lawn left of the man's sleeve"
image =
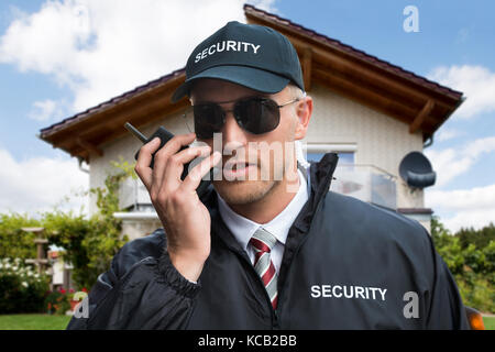
<path fill-rule="evenodd" d="M 65 330 L 69 320 L 69 316 L 0 316 L 0 330 Z"/>

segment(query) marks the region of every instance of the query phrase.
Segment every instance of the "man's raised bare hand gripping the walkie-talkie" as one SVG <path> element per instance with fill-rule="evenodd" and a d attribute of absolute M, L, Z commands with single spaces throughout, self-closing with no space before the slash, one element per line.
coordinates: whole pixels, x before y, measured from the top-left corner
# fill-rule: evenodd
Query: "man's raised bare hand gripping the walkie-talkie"
<path fill-rule="evenodd" d="M 197 280 L 210 255 L 210 213 L 196 193 L 201 178 L 218 164 L 221 154 L 209 155 L 209 146 L 187 147 L 195 134 L 175 135 L 154 156 L 160 146 L 155 138 L 141 147 L 135 172 L 143 182 L 167 234 L 167 251 L 176 270 L 187 279 Z M 208 156 L 209 155 L 209 156 Z M 184 164 L 208 156 L 182 180 Z"/>

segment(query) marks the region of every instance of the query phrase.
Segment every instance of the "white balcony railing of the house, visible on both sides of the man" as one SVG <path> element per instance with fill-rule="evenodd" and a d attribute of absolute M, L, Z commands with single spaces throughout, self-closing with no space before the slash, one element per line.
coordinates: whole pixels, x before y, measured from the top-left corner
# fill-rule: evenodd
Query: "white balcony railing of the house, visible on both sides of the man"
<path fill-rule="evenodd" d="M 396 176 L 374 165 L 340 165 L 330 189 L 381 207 L 396 209 Z M 139 179 L 128 178 L 120 188 L 120 207 L 154 212 L 150 195 Z"/>

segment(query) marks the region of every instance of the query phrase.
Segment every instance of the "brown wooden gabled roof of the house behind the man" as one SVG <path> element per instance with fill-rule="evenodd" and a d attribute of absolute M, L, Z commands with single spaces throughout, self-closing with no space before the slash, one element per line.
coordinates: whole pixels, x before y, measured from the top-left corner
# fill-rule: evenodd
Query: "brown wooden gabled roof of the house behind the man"
<path fill-rule="evenodd" d="M 462 103 L 462 92 L 428 80 L 340 41 L 245 4 L 249 23 L 271 26 L 286 35 L 298 52 L 306 89 L 314 82 L 366 105 L 409 125 L 410 133 L 431 138 Z M 54 147 L 89 162 L 102 155 L 100 145 L 135 127 L 183 110 L 187 99 L 173 103 L 174 90 L 185 80 L 185 69 L 148 81 L 86 111 L 40 131 Z"/>

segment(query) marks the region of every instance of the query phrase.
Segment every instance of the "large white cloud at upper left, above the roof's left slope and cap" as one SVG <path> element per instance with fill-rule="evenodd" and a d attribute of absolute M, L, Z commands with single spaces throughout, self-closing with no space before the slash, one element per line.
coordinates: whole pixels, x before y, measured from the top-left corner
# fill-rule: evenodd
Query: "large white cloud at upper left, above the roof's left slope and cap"
<path fill-rule="evenodd" d="M 271 10 L 273 0 L 251 1 Z M 185 66 L 194 47 L 231 20 L 243 0 L 52 0 L 16 13 L 0 37 L 0 63 L 53 77 L 73 112 Z"/>

